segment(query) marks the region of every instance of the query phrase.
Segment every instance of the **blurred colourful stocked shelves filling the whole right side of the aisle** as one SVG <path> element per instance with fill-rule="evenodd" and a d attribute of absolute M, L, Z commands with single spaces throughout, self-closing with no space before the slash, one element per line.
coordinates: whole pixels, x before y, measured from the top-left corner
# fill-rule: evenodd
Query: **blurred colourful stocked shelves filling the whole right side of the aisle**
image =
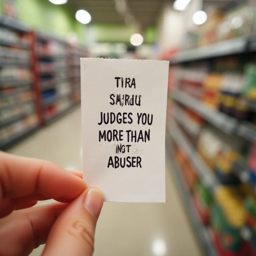
<path fill-rule="evenodd" d="M 183 44 L 197 48 L 170 60 L 166 143 L 173 146 L 167 155 L 189 188 L 191 219 L 196 211 L 204 225 L 198 232 L 210 237 L 199 235 L 204 255 L 215 255 L 212 248 L 221 256 L 256 255 L 253 10 L 241 1 L 208 11 L 208 20 Z"/>

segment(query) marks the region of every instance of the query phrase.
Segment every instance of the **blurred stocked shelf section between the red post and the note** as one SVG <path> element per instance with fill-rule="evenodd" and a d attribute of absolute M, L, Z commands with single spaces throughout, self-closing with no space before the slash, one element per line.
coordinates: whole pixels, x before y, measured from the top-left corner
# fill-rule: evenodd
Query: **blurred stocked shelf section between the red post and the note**
<path fill-rule="evenodd" d="M 48 124 L 50 119 L 63 112 L 63 100 L 67 101 L 65 108 L 72 105 L 68 44 L 53 36 L 37 33 L 36 49 L 39 70 L 39 74 L 36 74 L 39 91 L 37 98 L 41 102 L 41 123 Z"/>

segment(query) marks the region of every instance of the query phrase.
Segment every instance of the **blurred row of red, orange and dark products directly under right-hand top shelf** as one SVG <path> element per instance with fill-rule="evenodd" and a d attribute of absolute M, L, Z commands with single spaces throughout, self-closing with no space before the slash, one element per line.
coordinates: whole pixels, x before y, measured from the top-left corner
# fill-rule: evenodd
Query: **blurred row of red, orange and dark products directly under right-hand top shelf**
<path fill-rule="evenodd" d="M 174 69 L 171 67 L 170 70 L 173 69 L 176 75 L 169 85 L 173 87 L 172 90 L 169 88 L 169 95 L 218 129 L 254 143 L 256 68 L 253 56 L 252 62 L 246 65 L 244 57 L 217 59 L 211 64 L 211 71 L 209 62 L 198 63 L 198 66 L 191 64 Z"/>

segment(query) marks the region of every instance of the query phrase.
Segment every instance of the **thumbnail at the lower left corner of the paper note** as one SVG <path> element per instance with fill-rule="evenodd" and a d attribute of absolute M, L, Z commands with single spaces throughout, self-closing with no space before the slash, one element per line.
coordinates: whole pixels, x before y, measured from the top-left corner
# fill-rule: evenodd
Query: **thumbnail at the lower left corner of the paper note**
<path fill-rule="evenodd" d="M 84 197 L 84 207 L 97 218 L 104 202 L 104 196 L 98 188 L 89 188 Z"/>

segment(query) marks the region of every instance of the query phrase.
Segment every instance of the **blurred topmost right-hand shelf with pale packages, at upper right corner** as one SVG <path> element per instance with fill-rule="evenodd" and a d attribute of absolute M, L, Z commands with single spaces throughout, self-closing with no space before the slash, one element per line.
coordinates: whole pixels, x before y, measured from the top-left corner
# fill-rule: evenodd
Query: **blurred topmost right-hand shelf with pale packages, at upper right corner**
<path fill-rule="evenodd" d="M 255 52 L 254 1 L 229 1 L 207 11 L 207 22 L 190 31 L 170 64 Z"/>

